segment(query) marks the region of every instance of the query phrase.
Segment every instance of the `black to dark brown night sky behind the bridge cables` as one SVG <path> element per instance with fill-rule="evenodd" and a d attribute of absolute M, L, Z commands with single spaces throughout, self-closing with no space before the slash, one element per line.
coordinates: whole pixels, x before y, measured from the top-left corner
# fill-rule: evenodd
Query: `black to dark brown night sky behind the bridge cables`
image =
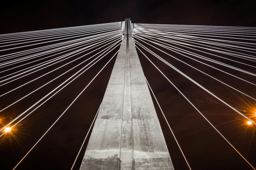
<path fill-rule="evenodd" d="M 123 21 L 131 18 L 133 23 L 154 24 L 182 24 L 182 25 L 216 25 L 216 26 L 245 26 L 256 27 L 256 1 L 4 1 L 0 5 L 0 34 L 24 31 L 35 31 L 62 27 L 72 27 L 108 22 Z M 142 67 L 149 84 L 158 98 L 167 119 L 171 124 L 176 137 L 192 167 L 196 170 L 205 169 L 251 169 L 245 161 L 225 142 L 211 126 L 199 115 L 196 110 L 167 82 L 162 75 L 138 52 Z M 151 57 L 152 58 L 152 57 Z M 89 74 L 79 78 L 61 94 L 51 99 L 47 105 L 41 107 L 30 119 L 22 124 L 21 133 L 17 134 L 21 146 L 16 141 L 6 138 L 0 146 L 0 170 L 11 170 L 25 155 L 25 153 L 43 135 L 49 126 L 59 117 L 66 107 L 74 100 L 80 91 L 94 77 L 108 59 L 98 63 Z M 200 84 L 210 89 L 216 95 L 222 96 L 226 101 L 236 105 L 238 109 L 246 110 L 247 106 L 225 86 L 214 82 L 210 78 L 191 71 L 190 68 L 169 60 L 182 71 L 188 73 Z M 174 81 L 181 91 L 202 111 L 207 118 L 227 137 L 241 153 L 256 166 L 256 137 L 254 131 L 247 129 L 244 119 L 222 105 L 215 98 L 192 84 L 179 73 L 174 72 L 155 62 L 163 72 Z M 71 168 L 81 143 L 91 125 L 96 111 L 102 101 L 114 60 L 106 67 L 98 79 L 88 87 L 83 95 L 72 105 L 67 114 L 63 116 L 54 128 L 43 138 L 38 146 L 26 157 L 17 170 L 30 169 L 63 169 Z M 212 75 L 227 80 L 230 84 L 241 88 L 256 97 L 253 85 L 244 85 L 224 76 L 212 69 L 199 66 Z M 247 71 L 256 73 L 255 69 Z M 47 70 L 45 71 L 47 72 Z M 60 73 L 61 71 L 59 71 Z M 71 73 L 70 73 L 71 75 Z M 255 77 L 239 74 L 256 83 Z M 37 75 L 33 75 L 37 76 Z M 36 87 L 41 81 L 54 77 L 49 75 L 43 80 L 34 82 Z M 66 77 L 60 80 L 64 81 Z M 22 84 L 28 79 L 17 82 Z M 58 85 L 56 82 L 54 85 Z M 33 87 L 33 85 L 31 85 Z M 0 87 L 0 91 L 11 88 Z M 33 87 L 34 88 L 34 87 Z M 30 106 L 37 96 L 49 91 L 46 86 L 41 92 L 34 94 L 25 101 L 9 109 L 5 116 L 13 112 L 19 113 Z M 23 88 L 8 97 L 0 98 L 1 108 L 19 96 L 24 96 L 31 89 Z M 2 93 L 1 93 L 2 94 Z M 238 94 L 237 94 L 238 95 Z M 240 96 L 242 98 L 242 96 Z M 155 102 L 155 100 L 154 100 Z M 250 100 L 251 106 L 256 103 Z M 156 103 L 154 103 L 156 104 Z M 239 106 L 240 105 L 240 106 Z M 177 147 L 168 126 L 164 122 L 161 111 L 155 105 L 164 137 L 176 170 L 188 169 Z M 247 112 L 252 109 L 247 109 Z M 236 121 L 230 122 L 230 121 Z M 229 122 L 229 123 L 227 123 Z M 240 122 L 240 124 L 239 124 Z M 87 141 L 88 142 L 88 141 Z M 81 153 L 83 156 L 85 151 Z M 79 169 L 79 157 L 76 169 Z M 79 162 L 80 161 L 80 162 Z"/>

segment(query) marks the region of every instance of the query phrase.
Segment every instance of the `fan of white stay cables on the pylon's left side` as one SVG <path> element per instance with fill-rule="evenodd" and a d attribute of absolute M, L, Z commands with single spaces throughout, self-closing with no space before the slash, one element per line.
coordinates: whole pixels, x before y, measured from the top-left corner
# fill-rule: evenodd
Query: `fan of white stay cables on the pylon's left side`
<path fill-rule="evenodd" d="M 11 133 L 16 126 L 25 121 L 30 114 L 33 114 L 38 108 L 42 107 L 49 99 L 53 98 L 60 91 L 65 90 L 66 86 L 72 84 L 78 77 L 86 76 L 85 72 L 90 71 L 90 68 L 96 63 L 105 62 L 106 60 L 103 67 L 100 65 L 100 71 L 87 85 L 84 85 L 84 89 L 79 95 L 13 169 L 16 169 L 83 91 L 94 81 L 97 75 L 117 55 L 124 36 L 124 28 L 124 22 L 114 22 L 0 35 L 0 88 L 3 89 L 0 90 L 0 98 L 4 99 L 19 88 L 33 86 L 33 82 L 48 78 L 48 81 L 42 81 L 43 84 L 38 88 L 31 88 L 26 95 L 19 96 L 16 100 L 5 106 L 2 105 L 0 110 L 1 117 L 8 114 L 8 109 L 11 106 L 20 101 L 26 101 L 28 96 L 37 93 L 43 87 L 53 82 L 57 84 L 56 86 L 51 86 L 49 93 L 44 93 L 43 91 L 41 99 L 34 101 L 31 106 L 19 115 L 15 114 L 11 121 L 5 124 L 2 122 L 0 127 L 0 138 L 2 139 L 7 133 Z M 49 77 L 52 77 L 49 76 L 52 73 L 54 73 L 55 77 L 49 79 Z M 22 84 L 15 83 L 22 78 L 26 78 L 26 82 Z"/>

